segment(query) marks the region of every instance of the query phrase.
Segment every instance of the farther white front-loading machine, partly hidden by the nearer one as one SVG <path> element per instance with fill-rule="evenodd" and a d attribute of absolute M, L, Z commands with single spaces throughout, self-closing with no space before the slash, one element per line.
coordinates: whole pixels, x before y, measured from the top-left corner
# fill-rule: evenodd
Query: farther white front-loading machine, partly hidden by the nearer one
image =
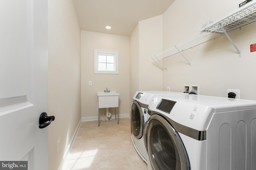
<path fill-rule="evenodd" d="M 188 95 L 180 92 L 140 91 L 133 97 L 131 108 L 132 143 L 140 155 L 147 162 L 147 152 L 144 145 L 143 129 L 147 120 L 148 104 L 154 95 Z"/>

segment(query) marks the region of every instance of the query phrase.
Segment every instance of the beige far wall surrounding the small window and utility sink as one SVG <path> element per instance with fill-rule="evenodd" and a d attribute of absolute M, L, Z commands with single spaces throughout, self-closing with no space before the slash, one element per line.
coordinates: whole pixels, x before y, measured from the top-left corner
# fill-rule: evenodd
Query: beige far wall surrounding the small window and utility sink
<path fill-rule="evenodd" d="M 98 119 L 97 92 L 120 93 L 119 115 L 129 115 L 129 37 L 81 31 L 81 84 L 83 121 Z M 118 51 L 119 74 L 94 74 L 94 49 Z M 92 81 L 92 86 L 88 85 Z M 114 117 L 114 109 L 110 111 Z"/>

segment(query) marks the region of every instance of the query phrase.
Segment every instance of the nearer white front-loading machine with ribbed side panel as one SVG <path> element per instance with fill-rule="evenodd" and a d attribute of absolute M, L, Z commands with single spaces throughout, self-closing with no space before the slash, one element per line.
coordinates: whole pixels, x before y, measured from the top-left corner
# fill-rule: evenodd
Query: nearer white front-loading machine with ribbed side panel
<path fill-rule="evenodd" d="M 154 96 L 148 113 L 148 170 L 256 169 L 256 101 Z"/>

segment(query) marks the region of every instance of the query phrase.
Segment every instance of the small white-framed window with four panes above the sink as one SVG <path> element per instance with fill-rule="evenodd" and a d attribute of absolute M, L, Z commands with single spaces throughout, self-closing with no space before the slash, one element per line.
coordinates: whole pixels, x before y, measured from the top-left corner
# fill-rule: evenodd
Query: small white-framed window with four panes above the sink
<path fill-rule="evenodd" d="M 118 74 L 118 51 L 94 49 L 94 73 Z"/>

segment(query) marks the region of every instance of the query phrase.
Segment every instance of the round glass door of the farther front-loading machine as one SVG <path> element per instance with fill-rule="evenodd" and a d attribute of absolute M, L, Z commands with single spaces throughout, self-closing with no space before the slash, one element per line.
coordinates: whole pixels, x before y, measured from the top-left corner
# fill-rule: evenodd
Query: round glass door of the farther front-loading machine
<path fill-rule="evenodd" d="M 137 101 L 132 102 L 131 126 L 134 137 L 140 139 L 143 135 L 144 117 L 140 104 Z"/>

